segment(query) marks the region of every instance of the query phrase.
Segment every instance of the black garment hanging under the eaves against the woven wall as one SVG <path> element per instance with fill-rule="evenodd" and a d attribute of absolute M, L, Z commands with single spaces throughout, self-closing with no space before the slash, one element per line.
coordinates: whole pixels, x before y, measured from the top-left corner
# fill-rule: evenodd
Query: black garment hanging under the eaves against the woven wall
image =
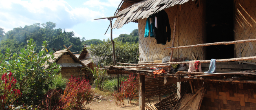
<path fill-rule="evenodd" d="M 162 10 L 154 14 L 155 26 L 154 26 L 154 38 L 157 40 L 157 44 L 166 44 L 171 41 L 171 27 L 169 24 L 169 18 L 166 11 Z M 166 30 L 167 29 L 167 30 Z"/>

